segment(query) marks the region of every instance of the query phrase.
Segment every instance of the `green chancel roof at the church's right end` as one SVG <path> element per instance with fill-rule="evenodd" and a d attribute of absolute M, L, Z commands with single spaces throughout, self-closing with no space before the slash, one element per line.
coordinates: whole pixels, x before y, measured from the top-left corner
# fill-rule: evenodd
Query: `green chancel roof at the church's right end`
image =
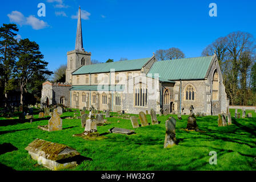
<path fill-rule="evenodd" d="M 191 57 L 155 62 L 147 76 L 159 74 L 159 80 L 197 80 L 206 77 L 213 56 Z M 150 75 L 152 74 L 152 75 Z"/>

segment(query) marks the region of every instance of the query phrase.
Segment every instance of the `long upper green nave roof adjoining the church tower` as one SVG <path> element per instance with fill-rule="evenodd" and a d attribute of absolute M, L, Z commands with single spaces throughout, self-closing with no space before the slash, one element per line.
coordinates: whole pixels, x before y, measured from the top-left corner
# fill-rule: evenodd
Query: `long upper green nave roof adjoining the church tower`
<path fill-rule="evenodd" d="M 147 57 L 143 59 L 116 61 L 112 63 L 84 65 L 81 68 L 78 68 L 76 71 L 74 71 L 72 75 L 81 75 L 81 74 L 88 74 L 88 73 L 106 73 L 106 72 L 110 72 L 110 69 L 115 69 L 115 72 L 139 70 L 150 59 L 151 57 Z"/>

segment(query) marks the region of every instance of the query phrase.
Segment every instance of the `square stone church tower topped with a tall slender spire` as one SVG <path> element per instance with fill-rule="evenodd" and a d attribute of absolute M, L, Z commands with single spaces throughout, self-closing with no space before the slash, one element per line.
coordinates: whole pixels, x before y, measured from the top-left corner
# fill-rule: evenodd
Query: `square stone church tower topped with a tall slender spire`
<path fill-rule="evenodd" d="M 82 24 L 81 24 L 81 8 L 78 10 L 77 20 L 77 37 L 75 39 L 74 51 L 67 52 L 67 69 L 66 82 L 72 82 L 71 73 L 83 65 L 91 64 L 91 52 L 86 52 L 83 48 Z"/>

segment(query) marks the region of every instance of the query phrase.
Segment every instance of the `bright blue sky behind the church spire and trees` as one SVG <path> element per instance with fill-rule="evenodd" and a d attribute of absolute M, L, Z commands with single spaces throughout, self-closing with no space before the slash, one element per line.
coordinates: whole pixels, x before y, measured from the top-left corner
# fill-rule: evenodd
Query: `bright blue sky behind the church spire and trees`
<path fill-rule="evenodd" d="M 45 17 L 37 14 L 38 3 L 45 3 Z M 216 3 L 217 17 L 209 16 L 210 3 Z M 25 0 L 0 5 L 1 26 L 17 23 L 19 36 L 39 44 L 51 71 L 66 64 L 66 52 L 75 47 L 79 5 L 83 45 L 98 61 L 150 57 L 171 47 L 186 57 L 201 56 L 215 39 L 238 30 L 256 38 L 256 1 L 251 0 Z"/>

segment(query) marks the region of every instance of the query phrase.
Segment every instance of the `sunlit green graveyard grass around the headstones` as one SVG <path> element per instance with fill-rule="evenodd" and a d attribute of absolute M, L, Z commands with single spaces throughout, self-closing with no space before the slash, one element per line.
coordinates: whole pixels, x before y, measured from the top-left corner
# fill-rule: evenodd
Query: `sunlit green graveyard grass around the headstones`
<path fill-rule="evenodd" d="M 78 113 L 78 110 L 63 113 L 61 117 L 72 117 L 75 112 Z M 159 125 L 137 129 L 133 129 L 130 119 L 110 117 L 107 118 L 107 125 L 97 126 L 99 134 L 107 139 L 92 141 L 73 137 L 73 134 L 80 134 L 84 130 L 81 119 L 63 118 L 63 130 L 48 132 L 37 129 L 38 125 L 47 125 L 50 118 L 38 118 L 38 112 L 32 124 L 29 120 L 18 122 L 15 120 L 18 117 L 0 117 L 0 163 L 1 167 L 15 170 L 49 170 L 32 160 L 24 149 L 30 142 L 40 138 L 66 144 L 82 156 L 92 159 L 65 170 L 255 170 L 256 113 L 246 110 L 246 114 L 252 113 L 253 118 L 235 119 L 235 110 L 230 109 L 230 112 L 232 125 L 227 127 L 218 127 L 217 116 L 197 117 L 201 132 L 185 130 L 188 115 L 182 115 L 182 120 L 172 115 L 177 119 L 178 142 L 172 148 L 163 148 L 165 121 L 170 115 L 158 116 Z M 238 112 L 242 113 L 241 110 Z M 151 123 L 150 115 L 146 117 Z M 141 124 L 139 119 L 138 122 Z M 113 127 L 135 130 L 136 134 L 109 133 L 108 130 Z M 10 143 L 18 150 L 4 153 L 3 143 Z M 217 152 L 217 165 L 209 164 L 210 151 Z"/>

